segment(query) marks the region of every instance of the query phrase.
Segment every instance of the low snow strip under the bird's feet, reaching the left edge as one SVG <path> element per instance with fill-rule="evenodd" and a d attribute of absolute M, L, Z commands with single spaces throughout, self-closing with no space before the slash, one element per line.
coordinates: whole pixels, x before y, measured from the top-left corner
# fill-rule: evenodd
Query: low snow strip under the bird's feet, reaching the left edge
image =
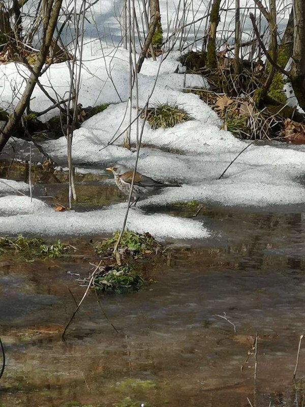
<path fill-rule="evenodd" d="M 22 199 L 21 199 L 22 198 Z M 0 217 L 2 234 L 57 235 L 97 235 L 109 234 L 119 229 L 123 223 L 126 204 L 113 205 L 105 210 L 78 213 L 74 211 L 56 212 L 38 199 L 7 196 L 0 198 L 0 215 L 10 203 L 13 209 L 20 209 L 15 216 Z M 26 211 L 28 210 L 28 213 Z M 209 232 L 201 222 L 174 218 L 162 214 L 144 214 L 131 209 L 127 228 L 137 232 L 149 231 L 159 239 L 202 239 Z"/>

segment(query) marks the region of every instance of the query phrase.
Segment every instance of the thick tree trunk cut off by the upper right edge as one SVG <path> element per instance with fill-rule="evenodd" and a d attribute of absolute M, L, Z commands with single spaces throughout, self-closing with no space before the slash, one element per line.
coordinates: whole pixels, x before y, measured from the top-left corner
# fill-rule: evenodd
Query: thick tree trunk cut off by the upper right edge
<path fill-rule="evenodd" d="M 305 110 L 305 3 L 294 0 L 293 4 L 293 56 L 291 84 L 300 107 Z"/>

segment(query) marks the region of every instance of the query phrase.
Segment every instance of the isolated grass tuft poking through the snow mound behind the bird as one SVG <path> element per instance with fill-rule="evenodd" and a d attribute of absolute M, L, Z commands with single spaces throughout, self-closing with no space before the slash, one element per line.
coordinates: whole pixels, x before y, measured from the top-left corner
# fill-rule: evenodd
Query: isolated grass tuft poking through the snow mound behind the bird
<path fill-rule="evenodd" d="M 144 113 L 141 115 L 144 117 Z M 147 109 L 146 120 L 151 128 L 156 130 L 160 127 L 163 129 L 174 127 L 178 123 L 193 120 L 191 115 L 177 104 L 159 104 L 156 107 Z"/>

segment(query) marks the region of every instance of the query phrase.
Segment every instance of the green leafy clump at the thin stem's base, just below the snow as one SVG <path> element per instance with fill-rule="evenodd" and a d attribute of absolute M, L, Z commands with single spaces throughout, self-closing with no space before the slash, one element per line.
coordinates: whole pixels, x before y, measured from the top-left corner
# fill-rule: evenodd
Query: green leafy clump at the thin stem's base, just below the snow
<path fill-rule="evenodd" d="M 116 230 L 112 237 L 96 244 L 98 253 L 112 251 L 119 236 L 119 230 Z M 120 240 L 120 247 L 130 251 L 133 255 L 141 255 L 144 253 L 152 253 L 162 251 L 163 248 L 153 236 L 149 233 L 139 234 L 131 230 L 124 230 Z"/>

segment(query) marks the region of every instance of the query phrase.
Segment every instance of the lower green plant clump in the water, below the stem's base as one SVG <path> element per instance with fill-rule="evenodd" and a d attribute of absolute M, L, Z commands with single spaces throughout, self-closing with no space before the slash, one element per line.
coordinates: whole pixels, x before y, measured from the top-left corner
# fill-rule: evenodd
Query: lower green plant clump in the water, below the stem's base
<path fill-rule="evenodd" d="M 94 280 L 96 289 L 117 294 L 137 291 L 143 285 L 143 278 L 129 265 L 113 266 Z"/>

